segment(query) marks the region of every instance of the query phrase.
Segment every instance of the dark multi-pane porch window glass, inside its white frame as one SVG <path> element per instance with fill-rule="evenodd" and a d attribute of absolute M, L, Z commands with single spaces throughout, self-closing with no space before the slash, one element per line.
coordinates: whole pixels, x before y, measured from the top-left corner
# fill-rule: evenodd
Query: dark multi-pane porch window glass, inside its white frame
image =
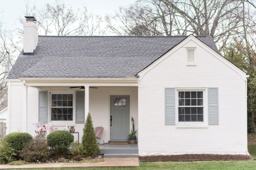
<path fill-rule="evenodd" d="M 73 94 L 51 94 L 51 120 L 73 120 Z"/>

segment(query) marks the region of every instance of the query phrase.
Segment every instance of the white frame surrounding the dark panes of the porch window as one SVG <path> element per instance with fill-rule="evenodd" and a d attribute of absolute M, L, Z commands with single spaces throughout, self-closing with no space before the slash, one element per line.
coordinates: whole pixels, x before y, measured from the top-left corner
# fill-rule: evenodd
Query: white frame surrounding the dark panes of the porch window
<path fill-rule="evenodd" d="M 76 119 L 76 96 L 74 91 L 51 91 L 49 93 L 49 109 L 48 109 L 48 122 L 55 124 L 75 124 Z M 51 94 L 73 94 L 73 120 L 51 120 Z"/>

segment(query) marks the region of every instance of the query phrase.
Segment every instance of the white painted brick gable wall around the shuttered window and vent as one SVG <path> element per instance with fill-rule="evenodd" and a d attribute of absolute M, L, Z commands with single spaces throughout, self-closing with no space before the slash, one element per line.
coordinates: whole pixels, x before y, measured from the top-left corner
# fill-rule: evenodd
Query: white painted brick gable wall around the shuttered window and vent
<path fill-rule="evenodd" d="M 186 65 L 185 46 L 196 47 L 196 66 Z M 185 46 L 139 82 L 139 155 L 247 154 L 245 80 L 199 45 Z M 219 125 L 165 125 L 165 87 L 219 87 Z"/>

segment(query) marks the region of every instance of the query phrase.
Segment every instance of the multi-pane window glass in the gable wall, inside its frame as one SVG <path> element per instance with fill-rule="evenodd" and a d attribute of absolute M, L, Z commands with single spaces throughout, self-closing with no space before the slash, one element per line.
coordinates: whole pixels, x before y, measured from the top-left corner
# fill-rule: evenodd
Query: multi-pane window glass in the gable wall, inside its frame
<path fill-rule="evenodd" d="M 179 121 L 204 121 L 203 91 L 179 91 Z"/>

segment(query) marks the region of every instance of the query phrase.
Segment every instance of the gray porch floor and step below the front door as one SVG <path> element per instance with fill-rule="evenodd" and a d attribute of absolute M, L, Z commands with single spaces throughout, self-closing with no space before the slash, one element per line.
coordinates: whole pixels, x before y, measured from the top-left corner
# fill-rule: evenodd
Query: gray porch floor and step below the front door
<path fill-rule="evenodd" d="M 138 145 L 137 144 L 125 144 L 125 145 L 113 145 L 104 144 L 99 145 L 101 154 L 104 154 L 105 158 L 109 157 L 138 157 Z"/>

